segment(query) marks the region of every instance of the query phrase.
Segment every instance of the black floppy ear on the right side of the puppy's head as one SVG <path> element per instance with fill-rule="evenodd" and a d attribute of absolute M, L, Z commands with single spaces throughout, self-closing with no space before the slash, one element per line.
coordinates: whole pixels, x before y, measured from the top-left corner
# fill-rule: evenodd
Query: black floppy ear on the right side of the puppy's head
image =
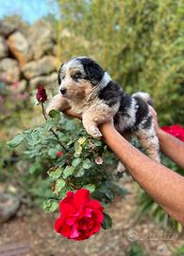
<path fill-rule="evenodd" d="M 80 60 L 84 66 L 84 70 L 88 79 L 92 82 L 92 85 L 98 84 L 104 76 L 105 71 L 99 64 L 96 64 L 90 58 L 83 58 Z"/>

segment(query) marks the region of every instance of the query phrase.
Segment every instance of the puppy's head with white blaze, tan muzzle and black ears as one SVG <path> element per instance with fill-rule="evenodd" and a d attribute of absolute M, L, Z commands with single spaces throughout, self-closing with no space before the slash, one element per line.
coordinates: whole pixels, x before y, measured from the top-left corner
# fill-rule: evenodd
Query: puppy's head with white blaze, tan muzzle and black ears
<path fill-rule="evenodd" d="M 68 100 L 84 100 L 99 85 L 105 71 L 88 57 L 75 57 L 59 68 L 59 92 Z"/>

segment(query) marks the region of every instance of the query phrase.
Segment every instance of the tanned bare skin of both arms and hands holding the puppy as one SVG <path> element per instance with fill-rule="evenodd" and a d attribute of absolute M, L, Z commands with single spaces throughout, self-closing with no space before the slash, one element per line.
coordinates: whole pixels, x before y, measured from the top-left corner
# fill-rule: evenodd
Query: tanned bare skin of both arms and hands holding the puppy
<path fill-rule="evenodd" d="M 184 143 L 162 131 L 156 112 L 153 108 L 151 110 L 162 153 L 184 169 Z M 66 114 L 81 119 L 70 109 Z M 111 150 L 142 189 L 184 226 L 184 177 L 143 155 L 115 130 L 112 120 L 101 124 L 99 129 Z"/>

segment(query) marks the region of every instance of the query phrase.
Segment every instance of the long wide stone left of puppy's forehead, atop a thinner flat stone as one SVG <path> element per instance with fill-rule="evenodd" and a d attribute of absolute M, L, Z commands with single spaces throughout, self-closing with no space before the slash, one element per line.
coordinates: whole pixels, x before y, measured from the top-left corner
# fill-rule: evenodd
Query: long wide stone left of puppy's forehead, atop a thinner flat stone
<path fill-rule="evenodd" d="M 38 62 L 30 62 L 25 64 L 22 68 L 22 71 L 27 80 L 30 80 L 34 77 L 39 77 L 42 75 L 49 75 L 53 71 L 58 69 L 58 60 L 53 56 L 44 56 Z"/>

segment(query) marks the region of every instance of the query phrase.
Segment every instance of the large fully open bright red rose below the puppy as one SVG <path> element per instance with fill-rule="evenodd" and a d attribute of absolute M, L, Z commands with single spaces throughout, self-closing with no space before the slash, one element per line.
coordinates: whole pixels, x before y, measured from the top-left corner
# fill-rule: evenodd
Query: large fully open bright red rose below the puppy
<path fill-rule="evenodd" d="M 87 239 L 101 229 L 103 210 L 97 200 L 91 199 L 88 190 L 67 192 L 59 203 L 60 216 L 55 222 L 55 230 L 76 241 Z"/>

